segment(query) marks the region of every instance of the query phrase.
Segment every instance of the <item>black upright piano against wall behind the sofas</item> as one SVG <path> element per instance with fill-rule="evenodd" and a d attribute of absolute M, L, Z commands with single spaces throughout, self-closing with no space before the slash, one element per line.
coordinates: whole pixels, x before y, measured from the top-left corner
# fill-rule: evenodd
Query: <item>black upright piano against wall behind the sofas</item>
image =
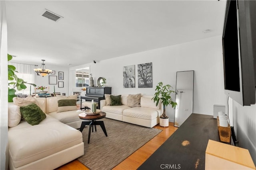
<path fill-rule="evenodd" d="M 100 108 L 100 100 L 104 100 L 104 94 L 111 94 L 111 87 L 87 87 L 86 88 L 86 95 L 81 96 L 81 105 L 80 109 L 82 108 L 82 99 L 85 101 L 94 101 L 98 102 L 98 108 Z"/>

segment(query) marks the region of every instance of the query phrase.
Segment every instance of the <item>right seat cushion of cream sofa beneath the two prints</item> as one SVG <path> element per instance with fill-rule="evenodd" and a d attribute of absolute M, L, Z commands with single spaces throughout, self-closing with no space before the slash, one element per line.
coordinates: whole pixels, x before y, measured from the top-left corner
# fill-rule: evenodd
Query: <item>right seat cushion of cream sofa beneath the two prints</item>
<path fill-rule="evenodd" d="M 160 115 L 159 109 L 146 107 L 132 107 L 123 111 L 123 116 L 135 117 L 139 119 L 153 120 Z"/>

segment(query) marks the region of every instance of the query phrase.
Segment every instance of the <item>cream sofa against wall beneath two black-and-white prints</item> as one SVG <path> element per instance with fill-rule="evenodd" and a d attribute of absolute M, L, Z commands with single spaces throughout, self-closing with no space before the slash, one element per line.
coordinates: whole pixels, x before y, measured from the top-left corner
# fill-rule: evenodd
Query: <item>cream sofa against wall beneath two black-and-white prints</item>
<path fill-rule="evenodd" d="M 153 96 L 141 96 L 140 107 L 128 106 L 128 94 L 121 94 L 122 106 L 106 105 L 106 100 L 100 100 L 100 109 L 106 112 L 106 117 L 119 121 L 124 121 L 145 127 L 154 127 L 159 123 L 162 115 L 162 104 L 154 103 Z"/>

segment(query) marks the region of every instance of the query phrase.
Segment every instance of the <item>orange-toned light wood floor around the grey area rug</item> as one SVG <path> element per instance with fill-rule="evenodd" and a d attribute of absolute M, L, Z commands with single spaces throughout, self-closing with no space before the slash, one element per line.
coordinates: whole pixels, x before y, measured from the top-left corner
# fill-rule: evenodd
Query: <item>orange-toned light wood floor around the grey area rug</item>
<path fill-rule="evenodd" d="M 174 127 L 173 123 L 169 122 L 169 127 L 161 127 L 159 124 L 154 126 L 153 128 L 162 129 L 157 136 L 148 141 L 144 146 L 140 149 L 136 150 L 133 154 L 131 154 L 128 158 L 126 158 L 123 162 L 118 164 L 113 170 L 136 170 L 145 160 L 147 160 L 151 154 L 156 151 L 165 141 L 168 139 L 177 127 Z M 68 164 L 65 164 L 59 168 L 58 170 L 89 170 L 86 166 L 80 163 L 78 160 L 73 160 Z"/>

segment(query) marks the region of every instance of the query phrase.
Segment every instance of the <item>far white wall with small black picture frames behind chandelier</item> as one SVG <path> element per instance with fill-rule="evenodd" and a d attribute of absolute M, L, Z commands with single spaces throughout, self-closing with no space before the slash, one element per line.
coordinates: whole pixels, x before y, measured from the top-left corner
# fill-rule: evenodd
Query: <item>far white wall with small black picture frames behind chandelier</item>
<path fill-rule="evenodd" d="M 41 65 L 38 65 L 38 68 L 40 68 Z M 53 93 L 54 86 L 55 86 L 55 92 L 66 93 L 66 95 L 69 94 L 69 68 L 68 67 L 61 67 L 61 66 L 55 66 L 55 65 L 49 65 L 46 63 L 46 67 L 50 70 L 54 70 L 55 74 L 49 74 L 50 76 L 57 76 L 57 84 L 49 84 L 49 76 L 37 76 L 35 72 L 35 84 L 36 86 L 46 86 L 47 91 L 48 87 L 50 87 L 50 93 Z M 64 72 L 64 80 L 59 80 L 58 72 Z M 58 82 L 64 82 L 64 88 L 58 88 Z M 44 90 L 44 91 L 46 91 Z M 36 90 L 36 92 L 39 92 L 41 90 Z M 34 92 L 34 90 L 32 90 Z"/>

